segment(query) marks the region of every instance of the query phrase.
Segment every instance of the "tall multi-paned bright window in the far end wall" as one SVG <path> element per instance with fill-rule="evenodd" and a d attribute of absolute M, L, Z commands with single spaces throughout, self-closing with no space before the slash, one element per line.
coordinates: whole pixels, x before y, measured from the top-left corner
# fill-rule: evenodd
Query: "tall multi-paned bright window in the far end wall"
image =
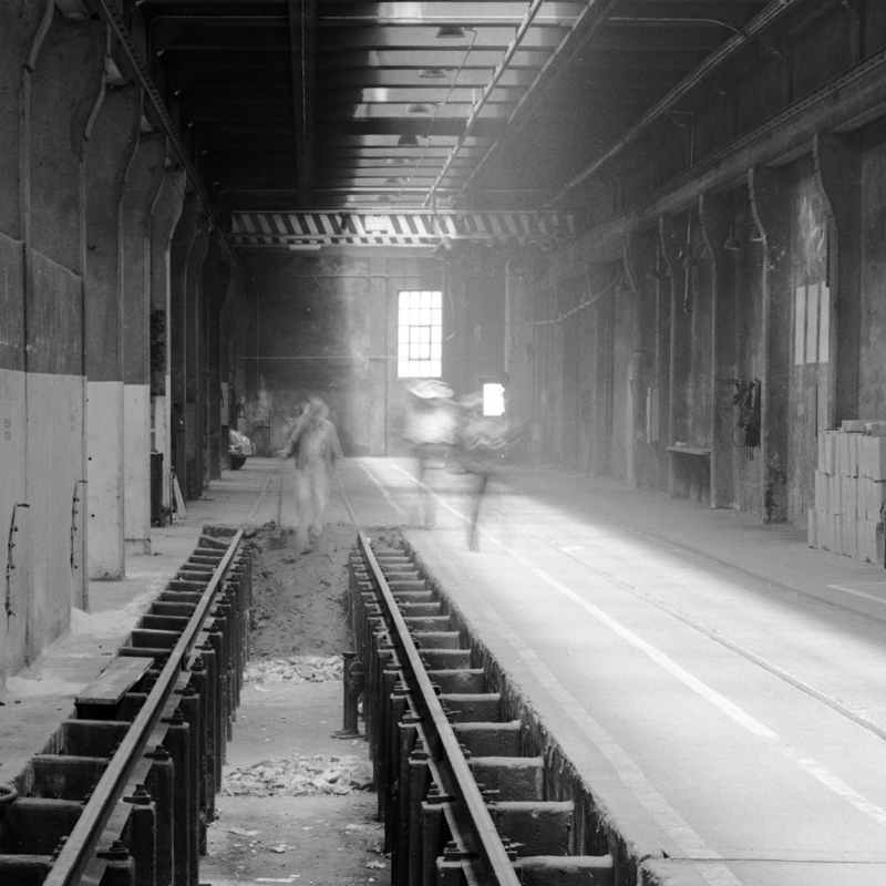
<path fill-rule="evenodd" d="M 439 379 L 443 357 L 443 293 L 401 291 L 398 313 L 396 374 Z"/>

